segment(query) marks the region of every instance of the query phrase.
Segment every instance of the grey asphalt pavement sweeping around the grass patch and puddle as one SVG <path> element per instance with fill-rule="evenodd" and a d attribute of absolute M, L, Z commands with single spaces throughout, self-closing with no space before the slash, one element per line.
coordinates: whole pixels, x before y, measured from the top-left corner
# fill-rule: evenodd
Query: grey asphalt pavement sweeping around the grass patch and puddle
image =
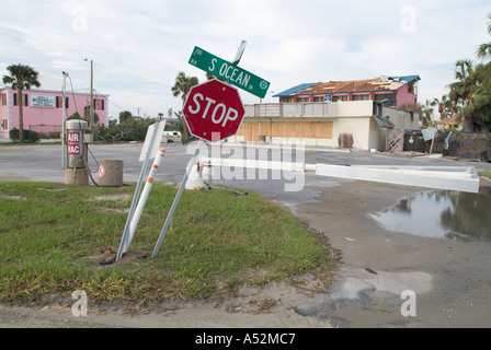
<path fill-rule="evenodd" d="M 157 180 L 181 182 L 196 142 L 162 147 L 165 156 Z M 135 183 L 141 171 L 141 143 L 91 145 L 89 167 L 95 180 L 96 161 L 123 160 L 124 183 Z M 307 164 L 475 166 L 491 171 L 491 163 L 362 151 L 279 152 L 264 145 L 232 144 L 202 151 L 205 156 L 246 154 Z M 0 147 L 0 180 L 62 183 L 61 147 Z M 339 327 L 491 327 L 491 243 L 392 233 L 369 219 L 368 213 L 393 206 L 421 188 L 239 168 L 221 173 L 214 185 L 260 192 L 288 207 L 342 252 L 343 266 L 332 290 L 296 305 L 298 314 Z M 286 190 L 293 187 L 300 190 Z M 401 288 L 418 293 L 418 316 L 401 315 Z"/>

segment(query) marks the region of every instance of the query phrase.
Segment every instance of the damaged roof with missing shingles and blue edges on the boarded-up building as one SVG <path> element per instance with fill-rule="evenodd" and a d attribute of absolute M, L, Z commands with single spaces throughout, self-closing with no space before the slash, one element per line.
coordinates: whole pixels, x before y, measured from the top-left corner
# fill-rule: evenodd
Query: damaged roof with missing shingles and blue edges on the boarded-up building
<path fill-rule="evenodd" d="M 319 95 L 319 94 L 327 95 L 327 94 L 340 94 L 340 93 L 353 93 L 353 92 L 396 91 L 414 80 L 421 80 L 421 78 L 419 75 L 381 77 L 367 80 L 307 83 L 288 89 L 284 92 L 274 95 L 273 97 L 288 97 L 298 95 Z"/>

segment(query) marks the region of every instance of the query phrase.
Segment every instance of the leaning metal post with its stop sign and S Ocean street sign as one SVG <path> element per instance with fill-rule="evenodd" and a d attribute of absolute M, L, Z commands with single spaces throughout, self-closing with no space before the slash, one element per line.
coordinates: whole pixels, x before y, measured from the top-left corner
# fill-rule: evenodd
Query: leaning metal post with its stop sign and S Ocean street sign
<path fill-rule="evenodd" d="M 242 40 L 233 59 L 233 63 L 216 57 L 196 46 L 191 55 L 190 65 L 263 98 L 266 95 L 270 83 L 237 66 L 246 49 L 246 44 L 247 42 Z M 160 245 L 162 244 L 167 230 L 172 221 L 172 217 L 174 215 L 175 208 L 178 207 L 181 195 L 186 186 L 191 171 L 199 155 L 199 148 L 203 140 L 217 142 L 235 136 L 242 124 L 246 109 L 243 108 L 242 101 L 240 100 L 239 92 L 236 88 L 214 79 L 191 89 L 184 104 L 183 114 L 190 132 L 197 137 L 199 142 L 192 160 L 187 163 L 186 173 L 184 174 L 174 202 L 172 203 L 171 210 L 169 211 L 153 249 L 153 257 L 159 253 Z"/>

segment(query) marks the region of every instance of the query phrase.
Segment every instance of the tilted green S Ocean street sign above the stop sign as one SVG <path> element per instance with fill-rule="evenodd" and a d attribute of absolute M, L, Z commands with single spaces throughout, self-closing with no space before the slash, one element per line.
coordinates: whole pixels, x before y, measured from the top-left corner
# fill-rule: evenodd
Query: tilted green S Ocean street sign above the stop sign
<path fill-rule="evenodd" d="M 191 55 L 190 65 L 197 67 L 218 79 L 229 82 L 237 88 L 246 90 L 260 98 L 264 98 L 267 89 L 270 89 L 269 81 L 254 75 L 225 59 L 212 55 L 197 46 Z"/>

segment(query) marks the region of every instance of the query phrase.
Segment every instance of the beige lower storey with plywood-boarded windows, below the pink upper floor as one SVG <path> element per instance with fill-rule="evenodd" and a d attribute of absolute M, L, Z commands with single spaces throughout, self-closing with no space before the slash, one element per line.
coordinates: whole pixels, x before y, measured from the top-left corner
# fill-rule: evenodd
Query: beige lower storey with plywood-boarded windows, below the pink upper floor
<path fill-rule="evenodd" d="M 387 129 L 374 118 L 373 101 L 246 105 L 246 117 L 230 142 L 304 142 L 307 147 L 386 150 Z M 418 128 L 418 115 L 382 108 L 398 128 Z M 415 122 L 414 122 L 415 120 Z"/>

